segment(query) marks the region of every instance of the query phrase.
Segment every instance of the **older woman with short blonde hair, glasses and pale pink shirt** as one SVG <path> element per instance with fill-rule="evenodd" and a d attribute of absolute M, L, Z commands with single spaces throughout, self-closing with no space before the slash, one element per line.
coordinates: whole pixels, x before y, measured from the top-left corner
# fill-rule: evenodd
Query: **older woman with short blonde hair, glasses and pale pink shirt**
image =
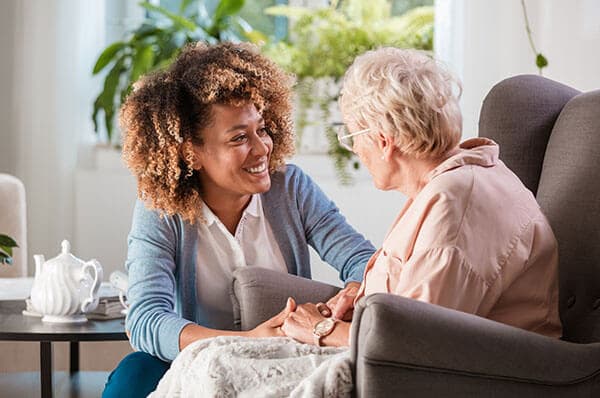
<path fill-rule="evenodd" d="M 356 299 L 392 293 L 559 337 L 550 225 L 493 141 L 458 144 L 456 89 L 450 74 L 414 50 L 367 52 L 345 75 L 340 142 L 377 188 L 408 197 Z M 350 323 L 323 317 L 325 305 L 319 307 L 299 306 L 285 334 L 348 345 Z"/>

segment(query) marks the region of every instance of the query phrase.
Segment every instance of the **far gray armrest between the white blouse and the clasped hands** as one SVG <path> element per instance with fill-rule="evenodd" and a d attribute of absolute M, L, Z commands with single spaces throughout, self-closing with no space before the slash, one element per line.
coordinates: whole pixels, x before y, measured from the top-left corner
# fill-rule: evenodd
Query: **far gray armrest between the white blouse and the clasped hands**
<path fill-rule="evenodd" d="M 277 314 L 288 297 L 298 304 L 327 301 L 339 287 L 259 267 L 240 268 L 233 273 L 234 323 L 250 330 Z"/>

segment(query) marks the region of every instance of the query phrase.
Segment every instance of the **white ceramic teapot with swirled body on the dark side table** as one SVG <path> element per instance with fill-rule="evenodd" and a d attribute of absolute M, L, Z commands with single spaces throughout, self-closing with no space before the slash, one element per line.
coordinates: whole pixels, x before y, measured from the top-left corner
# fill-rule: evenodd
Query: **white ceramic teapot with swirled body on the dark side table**
<path fill-rule="evenodd" d="M 42 321 L 86 322 L 85 313 L 98 306 L 102 266 L 96 260 L 84 262 L 71 254 L 71 244 L 61 243 L 62 252 L 48 261 L 37 254 L 31 304 L 43 315 Z"/>

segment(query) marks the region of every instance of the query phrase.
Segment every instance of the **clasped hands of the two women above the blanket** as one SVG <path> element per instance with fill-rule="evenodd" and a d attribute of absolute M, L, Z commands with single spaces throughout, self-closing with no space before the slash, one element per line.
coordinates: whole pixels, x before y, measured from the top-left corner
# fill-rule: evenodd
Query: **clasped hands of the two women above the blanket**
<path fill-rule="evenodd" d="M 250 332 L 253 337 L 288 336 L 302 343 L 314 344 L 313 329 L 326 317 L 342 321 L 352 320 L 354 299 L 360 284 L 350 282 L 327 303 L 297 305 L 288 298 L 285 308 L 273 318 L 258 325 Z"/>

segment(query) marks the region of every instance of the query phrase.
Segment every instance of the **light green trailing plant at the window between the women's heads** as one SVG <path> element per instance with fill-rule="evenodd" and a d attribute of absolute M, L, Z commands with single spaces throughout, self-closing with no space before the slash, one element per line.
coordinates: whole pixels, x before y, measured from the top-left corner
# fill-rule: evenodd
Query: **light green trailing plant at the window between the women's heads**
<path fill-rule="evenodd" d="M 317 123 L 324 124 L 328 154 L 342 183 L 348 183 L 349 165 L 357 168 L 358 163 L 338 145 L 330 120 L 339 81 L 354 58 L 367 50 L 381 46 L 432 50 L 433 7 L 417 7 L 394 16 L 390 0 L 331 0 L 326 7 L 275 6 L 265 12 L 292 22 L 290 39 L 268 43 L 264 51 L 298 78 L 299 137 L 310 124 L 308 109 L 318 107 Z"/>

